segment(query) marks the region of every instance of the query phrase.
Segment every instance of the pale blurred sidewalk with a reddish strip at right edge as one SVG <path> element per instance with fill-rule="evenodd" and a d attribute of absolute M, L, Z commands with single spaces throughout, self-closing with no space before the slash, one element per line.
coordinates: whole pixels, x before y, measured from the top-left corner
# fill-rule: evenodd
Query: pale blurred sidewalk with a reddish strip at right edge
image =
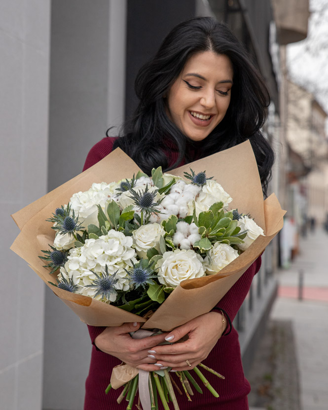
<path fill-rule="evenodd" d="M 303 272 L 302 300 L 298 299 Z M 318 228 L 300 239 L 300 254 L 277 272 L 278 298 L 271 319 L 290 321 L 299 379 L 299 410 L 328 409 L 328 233 Z"/>

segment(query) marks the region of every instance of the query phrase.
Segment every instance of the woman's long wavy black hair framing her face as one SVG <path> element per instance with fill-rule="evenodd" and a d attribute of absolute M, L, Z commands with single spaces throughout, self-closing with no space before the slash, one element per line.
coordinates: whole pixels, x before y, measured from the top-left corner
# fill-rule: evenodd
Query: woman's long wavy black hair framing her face
<path fill-rule="evenodd" d="M 189 140 L 166 114 L 164 96 L 182 72 L 187 60 L 198 52 L 226 55 L 233 67 L 229 108 L 217 127 L 201 142 Z M 153 167 L 173 169 L 190 148 L 201 157 L 250 140 L 255 153 L 263 192 L 271 178 L 274 153 L 260 128 L 266 120 L 270 97 L 264 80 L 251 63 L 243 44 L 230 29 L 212 17 L 196 17 L 176 26 L 164 39 L 157 54 L 139 71 L 135 91 L 140 100 L 134 116 L 125 124 L 125 135 L 114 148 L 123 149 L 148 175 Z M 176 163 L 169 164 L 164 149 L 178 150 Z"/>

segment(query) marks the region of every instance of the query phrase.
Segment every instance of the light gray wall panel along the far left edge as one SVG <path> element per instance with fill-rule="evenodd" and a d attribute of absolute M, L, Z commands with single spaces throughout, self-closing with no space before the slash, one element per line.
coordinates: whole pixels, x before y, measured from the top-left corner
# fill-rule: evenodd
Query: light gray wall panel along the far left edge
<path fill-rule="evenodd" d="M 0 2 L 0 408 L 41 408 L 43 282 L 9 246 L 10 214 L 46 193 L 49 0 Z"/>

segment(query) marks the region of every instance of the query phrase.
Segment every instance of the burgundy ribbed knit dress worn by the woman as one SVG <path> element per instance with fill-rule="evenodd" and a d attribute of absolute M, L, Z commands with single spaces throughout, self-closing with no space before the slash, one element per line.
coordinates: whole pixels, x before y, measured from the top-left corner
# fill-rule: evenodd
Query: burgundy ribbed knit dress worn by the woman
<path fill-rule="evenodd" d="M 108 155 L 112 150 L 114 141 L 114 138 L 104 138 L 97 143 L 90 150 L 83 171 Z M 178 157 L 177 152 L 174 150 L 167 152 L 167 155 L 171 163 L 174 163 Z M 243 303 L 260 265 L 261 258 L 259 257 L 219 301 L 218 307 L 228 314 L 231 321 L 233 321 Z M 94 343 L 95 338 L 104 331 L 105 327 L 88 326 L 88 329 L 91 341 Z M 89 375 L 85 383 L 84 410 L 126 409 L 127 402 L 125 400 L 121 404 L 116 402 L 122 388 L 111 389 L 108 395 L 105 394 L 105 389 L 110 382 L 111 369 L 120 363 L 120 360 L 100 351 L 93 344 Z M 192 402 L 188 402 L 184 394 L 182 396 L 177 394 L 180 409 L 248 410 L 247 395 L 251 387 L 244 376 L 238 334 L 233 327 L 230 333 L 229 329 L 226 329 L 225 335 L 219 338 L 207 359 L 203 360 L 202 363 L 225 376 L 225 379 L 221 380 L 212 373 L 205 371 L 207 379 L 219 393 L 219 398 L 215 398 L 205 387 L 202 389 L 203 394 L 195 392 L 192 396 Z M 171 374 L 179 381 L 177 375 Z M 194 377 L 197 379 L 196 374 L 194 374 Z M 199 384 L 202 385 L 201 381 Z M 163 409 L 160 400 L 158 405 L 159 409 Z"/>

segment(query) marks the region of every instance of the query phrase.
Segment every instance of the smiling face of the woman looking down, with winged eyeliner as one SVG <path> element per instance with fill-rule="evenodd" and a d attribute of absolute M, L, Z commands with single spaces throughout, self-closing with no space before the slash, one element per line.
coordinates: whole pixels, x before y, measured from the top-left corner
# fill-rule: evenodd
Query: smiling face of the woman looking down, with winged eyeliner
<path fill-rule="evenodd" d="M 204 140 L 222 121 L 232 77 L 231 61 L 223 54 L 203 51 L 186 62 L 166 97 L 170 119 L 190 140 Z"/>

